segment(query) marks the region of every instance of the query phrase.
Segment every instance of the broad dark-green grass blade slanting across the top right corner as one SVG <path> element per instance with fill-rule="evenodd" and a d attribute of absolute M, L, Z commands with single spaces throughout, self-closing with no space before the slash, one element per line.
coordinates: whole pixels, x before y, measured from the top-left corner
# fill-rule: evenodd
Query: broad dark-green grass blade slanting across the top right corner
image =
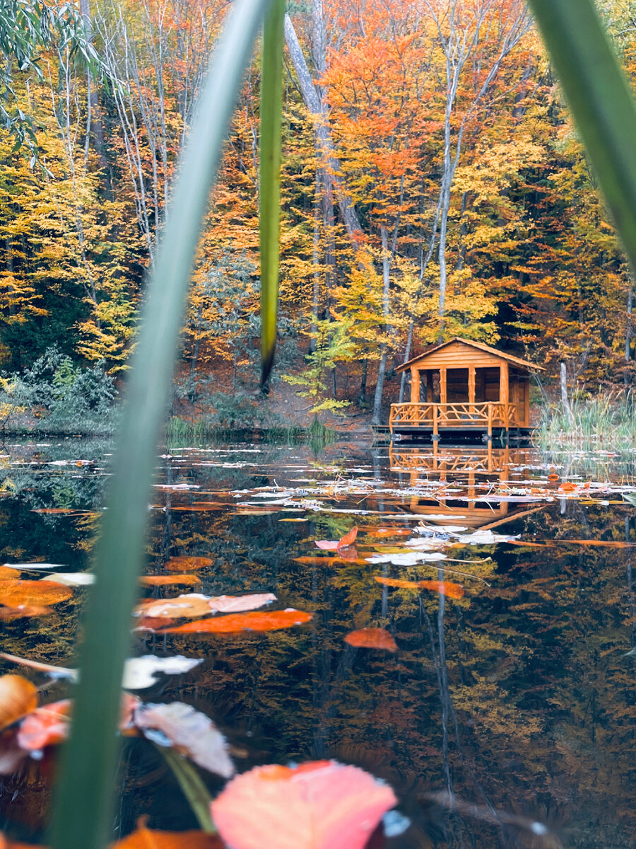
<path fill-rule="evenodd" d="M 593 0 L 529 0 L 636 269 L 636 109 Z"/>

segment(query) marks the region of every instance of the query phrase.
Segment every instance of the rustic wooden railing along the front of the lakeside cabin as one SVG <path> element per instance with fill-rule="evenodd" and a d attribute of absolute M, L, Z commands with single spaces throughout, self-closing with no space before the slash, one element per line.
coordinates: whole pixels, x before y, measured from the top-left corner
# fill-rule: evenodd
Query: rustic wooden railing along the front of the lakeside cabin
<path fill-rule="evenodd" d="M 389 430 L 400 428 L 426 428 L 437 434 L 440 428 L 484 428 L 492 434 L 493 428 L 518 427 L 516 404 L 502 402 L 433 404 L 392 404 L 388 419 Z"/>

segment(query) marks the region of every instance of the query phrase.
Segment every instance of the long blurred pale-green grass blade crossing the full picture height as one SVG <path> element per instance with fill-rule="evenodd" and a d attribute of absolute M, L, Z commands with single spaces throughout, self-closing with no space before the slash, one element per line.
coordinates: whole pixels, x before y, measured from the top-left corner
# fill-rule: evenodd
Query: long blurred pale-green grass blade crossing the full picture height
<path fill-rule="evenodd" d="M 110 838 L 120 683 L 160 425 L 201 222 L 268 0 L 237 0 L 232 7 L 192 123 L 133 357 L 109 509 L 98 543 L 97 582 L 84 620 L 81 683 L 53 805 L 53 849 L 103 849 Z"/>

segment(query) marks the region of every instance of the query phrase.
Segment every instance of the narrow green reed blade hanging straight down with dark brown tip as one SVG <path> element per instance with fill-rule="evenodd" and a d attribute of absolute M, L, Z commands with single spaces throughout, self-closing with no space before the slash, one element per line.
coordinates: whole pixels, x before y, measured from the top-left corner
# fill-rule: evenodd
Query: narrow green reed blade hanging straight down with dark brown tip
<path fill-rule="evenodd" d="M 260 73 L 260 385 L 274 364 L 281 216 L 282 47 L 285 0 L 272 0 Z"/>

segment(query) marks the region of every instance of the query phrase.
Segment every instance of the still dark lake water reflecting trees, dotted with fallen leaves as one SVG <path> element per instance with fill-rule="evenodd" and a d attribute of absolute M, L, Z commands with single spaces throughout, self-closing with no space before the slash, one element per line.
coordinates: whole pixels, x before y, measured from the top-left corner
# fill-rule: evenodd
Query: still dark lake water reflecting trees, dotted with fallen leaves
<path fill-rule="evenodd" d="M 108 451 L 70 440 L 4 448 L 1 563 L 90 568 Z M 131 655 L 204 659 L 137 694 L 204 711 L 240 771 L 333 757 L 385 779 L 411 823 L 390 847 L 633 847 L 636 658 L 625 653 L 636 644 L 636 548 L 625 543 L 636 543 L 636 508 L 622 492 L 634 481 L 633 458 L 607 454 L 170 447 L 158 459 L 148 574 L 165 574 L 171 557 L 209 557 L 195 592 L 276 593 L 274 607 L 313 619 L 272 633 L 136 633 Z M 353 553 L 316 548 L 353 526 Z M 420 538 L 455 543 L 446 560 L 409 554 L 405 541 L 417 534 L 407 531 L 417 526 Z M 486 532 L 462 543 L 480 529 L 494 542 Z M 465 595 L 391 588 L 375 576 L 459 582 Z M 180 592 L 190 590 L 140 597 Z M 50 616 L 4 622 L 3 650 L 73 666 L 85 594 L 75 588 Z M 399 650 L 343 642 L 362 627 L 385 627 Z M 0 672 L 16 671 L 0 662 Z M 42 701 L 69 692 L 22 672 L 43 685 Z M 0 779 L 0 829 L 42 838 L 52 772 L 46 756 Z M 212 792 L 222 786 L 205 778 Z M 154 829 L 196 827 L 148 741 L 126 740 L 119 779 L 117 835 L 143 814 Z M 455 795 L 454 812 L 444 792 Z"/>

